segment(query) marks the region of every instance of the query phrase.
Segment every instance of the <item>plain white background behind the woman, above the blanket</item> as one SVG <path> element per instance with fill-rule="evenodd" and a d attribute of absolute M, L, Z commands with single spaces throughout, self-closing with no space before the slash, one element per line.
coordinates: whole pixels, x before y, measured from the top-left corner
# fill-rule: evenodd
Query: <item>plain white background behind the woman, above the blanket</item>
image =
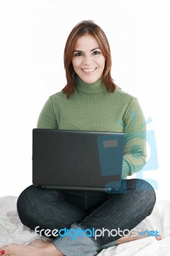
<path fill-rule="evenodd" d="M 0 0 L 0 196 L 31 184 L 32 129 L 49 95 L 66 84 L 68 34 L 91 19 L 109 40 L 115 82 L 153 120 L 147 129 L 155 131 L 159 168 L 143 178 L 169 200 L 169 13 L 168 0 Z"/>

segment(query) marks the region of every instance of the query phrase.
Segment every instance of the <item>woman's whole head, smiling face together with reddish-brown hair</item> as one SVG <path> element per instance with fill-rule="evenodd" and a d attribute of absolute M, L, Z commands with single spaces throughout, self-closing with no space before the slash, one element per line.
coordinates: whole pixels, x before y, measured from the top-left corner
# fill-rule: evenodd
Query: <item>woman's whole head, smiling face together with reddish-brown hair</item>
<path fill-rule="evenodd" d="M 114 92 L 116 84 L 111 77 L 112 61 L 109 42 L 104 31 L 92 20 L 79 22 L 72 29 L 66 40 L 64 63 L 67 84 L 63 88 L 63 92 L 68 97 L 74 92 L 76 76 L 79 69 L 81 70 L 79 70 L 78 76 L 80 75 L 82 81 L 85 83 L 95 83 L 98 78 L 102 77 L 102 81 L 108 92 Z M 89 71 L 93 72 L 94 68 L 97 69 L 94 72 L 94 76 L 84 76 L 85 74 L 89 74 Z"/>

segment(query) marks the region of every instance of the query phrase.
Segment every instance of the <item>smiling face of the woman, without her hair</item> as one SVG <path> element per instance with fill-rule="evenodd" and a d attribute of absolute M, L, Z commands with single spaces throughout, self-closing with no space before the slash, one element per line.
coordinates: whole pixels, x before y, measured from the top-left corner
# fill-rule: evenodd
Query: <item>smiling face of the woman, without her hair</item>
<path fill-rule="evenodd" d="M 102 77 L 105 58 L 93 36 L 84 35 L 77 39 L 73 50 L 72 65 L 75 73 L 84 83 L 95 83 Z"/>

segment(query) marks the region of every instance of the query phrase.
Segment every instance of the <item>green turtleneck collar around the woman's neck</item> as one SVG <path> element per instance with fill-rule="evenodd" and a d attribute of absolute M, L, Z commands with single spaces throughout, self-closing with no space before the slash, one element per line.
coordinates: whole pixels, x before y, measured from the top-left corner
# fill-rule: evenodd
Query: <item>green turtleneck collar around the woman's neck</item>
<path fill-rule="evenodd" d="M 83 93 L 99 93 L 104 90 L 107 90 L 104 83 L 102 83 L 102 77 L 100 77 L 95 83 L 86 84 L 82 79 L 77 76 L 76 77 L 76 87 L 79 92 Z"/>

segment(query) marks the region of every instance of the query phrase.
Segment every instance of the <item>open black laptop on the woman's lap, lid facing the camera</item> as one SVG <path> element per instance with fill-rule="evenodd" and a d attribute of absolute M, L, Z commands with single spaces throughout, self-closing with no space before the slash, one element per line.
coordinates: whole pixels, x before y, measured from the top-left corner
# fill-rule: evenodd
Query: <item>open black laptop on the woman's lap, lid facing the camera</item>
<path fill-rule="evenodd" d="M 124 134 L 33 129 L 33 185 L 41 188 L 119 189 Z"/>

